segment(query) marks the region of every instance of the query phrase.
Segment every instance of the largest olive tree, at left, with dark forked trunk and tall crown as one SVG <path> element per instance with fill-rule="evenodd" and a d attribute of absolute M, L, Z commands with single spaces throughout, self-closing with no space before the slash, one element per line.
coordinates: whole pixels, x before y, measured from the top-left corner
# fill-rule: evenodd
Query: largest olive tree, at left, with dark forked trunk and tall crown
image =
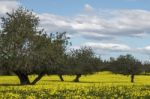
<path fill-rule="evenodd" d="M 62 50 L 59 45 L 64 44 L 59 43 L 62 36 L 48 36 L 40 30 L 36 15 L 20 7 L 2 17 L 1 27 L 0 69 L 15 73 L 25 85 L 35 84 L 54 68 L 60 52 L 57 49 Z M 33 82 L 29 81 L 30 74 L 38 74 Z"/>

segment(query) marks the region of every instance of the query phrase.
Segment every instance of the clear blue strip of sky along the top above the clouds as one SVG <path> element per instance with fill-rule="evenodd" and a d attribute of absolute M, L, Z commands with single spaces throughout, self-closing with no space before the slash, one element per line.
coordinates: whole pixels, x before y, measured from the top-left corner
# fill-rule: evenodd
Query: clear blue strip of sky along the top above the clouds
<path fill-rule="evenodd" d="M 82 11 L 85 4 L 96 9 L 143 9 L 150 10 L 149 0 L 20 0 L 39 13 L 49 12 L 61 15 L 74 15 Z"/>

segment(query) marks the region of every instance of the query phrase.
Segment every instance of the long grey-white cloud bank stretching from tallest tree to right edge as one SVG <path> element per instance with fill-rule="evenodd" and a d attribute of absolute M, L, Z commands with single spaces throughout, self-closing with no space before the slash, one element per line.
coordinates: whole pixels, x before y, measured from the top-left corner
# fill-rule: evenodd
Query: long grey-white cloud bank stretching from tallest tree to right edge
<path fill-rule="evenodd" d="M 143 37 L 150 33 L 150 12 L 145 10 L 111 10 L 73 17 L 48 13 L 39 16 L 42 26 L 49 32 L 67 31 L 70 35 L 80 35 L 88 39 Z"/>

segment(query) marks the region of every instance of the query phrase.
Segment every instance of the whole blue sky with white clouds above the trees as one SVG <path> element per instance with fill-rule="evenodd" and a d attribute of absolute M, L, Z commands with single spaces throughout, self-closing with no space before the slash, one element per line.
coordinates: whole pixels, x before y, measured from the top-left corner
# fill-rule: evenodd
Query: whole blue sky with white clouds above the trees
<path fill-rule="evenodd" d="M 71 48 L 90 46 L 102 58 L 133 54 L 150 60 L 150 0 L 1 0 L 0 16 L 22 5 L 47 33 L 64 32 Z"/>

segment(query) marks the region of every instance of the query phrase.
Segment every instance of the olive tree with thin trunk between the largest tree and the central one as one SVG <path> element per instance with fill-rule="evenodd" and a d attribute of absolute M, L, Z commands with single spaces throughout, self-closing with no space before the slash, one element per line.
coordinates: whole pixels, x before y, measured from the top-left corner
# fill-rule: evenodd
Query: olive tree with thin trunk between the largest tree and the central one
<path fill-rule="evenodd" d="M 69 42 L 70 38 L 67 37 L 66 32 L 51 34 L 50 37 L 52 38 L 52 57 L 55 59 L 55 62 L 53 62 L 52 66 L 49 66 L 50 70 L 48 71 L 48 74 L 56 74 L 61 81 L 64 81 L 62 75 L 66 74 L 67 70 L 66 50 L 67 46 L 71 45 L 71 42 Z"/>

